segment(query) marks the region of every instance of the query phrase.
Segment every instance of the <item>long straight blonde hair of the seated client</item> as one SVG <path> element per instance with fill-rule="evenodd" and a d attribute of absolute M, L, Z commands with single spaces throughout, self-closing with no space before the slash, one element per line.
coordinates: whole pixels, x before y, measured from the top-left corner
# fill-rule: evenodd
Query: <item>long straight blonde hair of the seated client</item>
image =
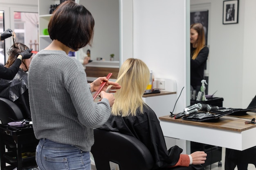
<path fill-rule="evenodd" d="M 149 76 L 148 66 L 140 59 L 130 58 L 124 61 L 117 76 L 116 83 L 121 85 L 121 89 L 114 94 L 112 115 L 136 116 L 137 109 L 143 113 L 142 95 L 149 83 Z"/>

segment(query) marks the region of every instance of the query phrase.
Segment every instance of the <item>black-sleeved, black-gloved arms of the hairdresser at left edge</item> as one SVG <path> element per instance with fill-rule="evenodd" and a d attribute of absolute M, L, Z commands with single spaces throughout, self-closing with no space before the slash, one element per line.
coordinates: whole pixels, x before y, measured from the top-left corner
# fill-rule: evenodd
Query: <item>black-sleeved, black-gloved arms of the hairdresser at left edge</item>
<path fill-rule="evenodd" d="M 6 38 L 11 37 L 12 35 L 13 35 L 13 31 L 11 31 L 11 29 L 7 29 L 2 34 L 0 34 L 1 41 Z M 12 80 L 19 70 L 22 59 L 29 59 L 31 57 L 31 55 L 32 55 L 31 49 L 27 49 L 23 52 L 20 52 L 17 55 L 18 55 L 18 57 L 13 62 L 11 67 L 6 68 L 6 67 L 0 65 L 0 78 Z"/>

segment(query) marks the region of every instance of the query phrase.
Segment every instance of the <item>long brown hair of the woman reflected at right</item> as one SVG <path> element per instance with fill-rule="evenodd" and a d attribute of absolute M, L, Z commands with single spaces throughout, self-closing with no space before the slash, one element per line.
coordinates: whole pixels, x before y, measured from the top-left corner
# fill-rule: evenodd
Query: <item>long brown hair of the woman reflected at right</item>
<path fill-rule="evenodd" d="M 195 23 L 190 26 L 190 29 L 193 28 L 198 33 L 197 39 L 197 47 L 195 48 L 195 52 L 192 54 L 192 59 L 196 59 L 198 54 L 202 48 L 205 46 L 205 37 L 204 37 L 204 26 L 201 23 Z M 190 44 L 190 50 L 192 48 L 192 44 Z"/>

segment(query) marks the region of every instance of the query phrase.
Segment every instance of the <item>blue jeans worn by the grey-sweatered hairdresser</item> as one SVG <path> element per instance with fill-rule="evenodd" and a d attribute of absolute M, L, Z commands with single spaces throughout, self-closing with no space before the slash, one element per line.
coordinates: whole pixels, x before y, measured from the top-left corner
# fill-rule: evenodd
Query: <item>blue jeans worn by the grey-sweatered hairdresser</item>
<path fill-rule="evenodd" d="M 40 139 L 36 163 L 40 170 L 91 170 L 90 152 L 49 139 Z"/>

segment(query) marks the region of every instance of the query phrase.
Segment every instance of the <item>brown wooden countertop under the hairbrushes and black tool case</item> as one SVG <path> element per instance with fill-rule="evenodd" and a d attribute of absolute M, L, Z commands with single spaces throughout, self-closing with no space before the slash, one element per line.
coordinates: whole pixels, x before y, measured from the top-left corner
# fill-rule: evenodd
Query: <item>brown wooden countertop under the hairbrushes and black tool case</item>
<path fill-rule="evenodd" d="M 256 128 L 256 124 L 251 124 L 251 123 L 245 124 L 245 121 L 248 121 L 248 118 L 246 117 L 248 116 L 245 116 L 245 118 L 237 118 L 233 116 L 222 116 L 216 119 L 214 122 L 195 122 L 195 121 L 183 120 L 182 118 L 174 119 L 169 115 L 159 117 L 159 119 L 169 121 L 169 122 L 181 123 L 181 124 L 190 124 L 190 125 L 203 126 L 203 127 L 214 128 L 214 129 L 223 129 L 228 131 L 242 132 L 248 129 Z M 251 120 L 251 118 L 249 118 L 249 120 Z"/>

